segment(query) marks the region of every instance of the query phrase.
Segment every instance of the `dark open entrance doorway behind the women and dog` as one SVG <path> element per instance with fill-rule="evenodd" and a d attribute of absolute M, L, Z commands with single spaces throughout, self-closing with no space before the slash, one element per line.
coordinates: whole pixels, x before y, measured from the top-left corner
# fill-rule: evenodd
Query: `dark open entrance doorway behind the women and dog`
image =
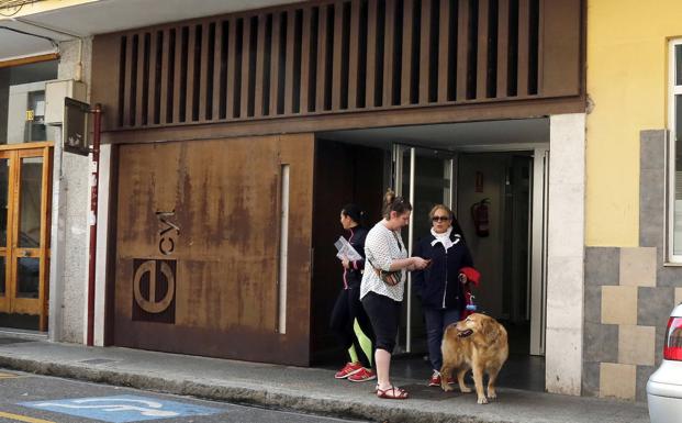
<path fill-rule="evenodd" d="M 345 192 L 349 181 L 362 180 L 365 183 L 360 187 L 350 185 L 354 188 L 349 199 L 379 201 L 385 188 L 391 187 L 413 204 L 411 223 L 402 233 L 411 251 L 431 229 L 427 216 L 433 205 L 444 203 L 454 210 L 474 265 L 482 274 L 481 286 L 474 289 L 479 310 L 499 319 L 510 332 L 512 356 L 501 374 L 501 386 L 544 391 L 549 120 L 338 131 L 317 134 L 317 140 L 316 168 L 329 168 L 321 157 L 333 146 L 335 153 L 329 156 L 336 162 L 344 158 L 343 167 L 349 172 L 343 174 L 340 182 L 339 178 L 326 178 L 334 183 L 323 185 L 334 188 L 333 192 Z M 373 157 L 374 165 L 367 166 L 364 162 L 362 166 L 350 166 L 355 162 L 340 153 L 344 151 L 362 151 L 360 157 Z M 370 151 L 378 153 L 370 155 Z M 367 171 L 376 172 L 379 167 L 383 168 L 383 178 Z M 334 175 L 342 175 L 340 170 Z M 320 176 L 316 180 L 325 180 Z M 376 183 L 381 180 L 383 185 Z M 369 181 L 372 183 L 367 183 Z M 317 186 L 315 203 L 328 204 L 329 198 L 320 192 L 327 192 L 327 189 Z M 476 233 L 471 218 L 472 204 L 483 199 L 488 199 L 490 213 L 489 236 Z M 327 213 L 327 222 L 337 219 L 338 207 L 340 204 Z M 315 211 L 316 218 L 324 214 L 322 207 Z M 320 322 L 320 336 L 312 334 L 313 345 L 320 345 L 320 350 L 334 345 L 333 339 L 323 335 L 328 327 L 324 311 L 331 310 L 338 287 L 334 283 L 329 287 L 329 279 L 338 268 L 331 241 L 338 237 L 340 230 L 333 225 L 325 230 L 325 236 L 313 242 L 313 290 L 320 293 L 316 299 L 326 296 L 327 300 L 320 301 L 325 307 L 313 312 L 313 321 Z M 324 267 L 328 271 L 317 279 L 315 275 L 323 274 L 318 269 L 325 260 L 329 261 L 328 269 Z M 421 301 L 411 285 L 409 280 L 394 350 L 396 360 L 391 368 L 398 376 L 426 380 L 431 367 L 426 357 L 425 325 Z M 338 355 L 336 357 L 336 363 L 342 363 Z"/>

